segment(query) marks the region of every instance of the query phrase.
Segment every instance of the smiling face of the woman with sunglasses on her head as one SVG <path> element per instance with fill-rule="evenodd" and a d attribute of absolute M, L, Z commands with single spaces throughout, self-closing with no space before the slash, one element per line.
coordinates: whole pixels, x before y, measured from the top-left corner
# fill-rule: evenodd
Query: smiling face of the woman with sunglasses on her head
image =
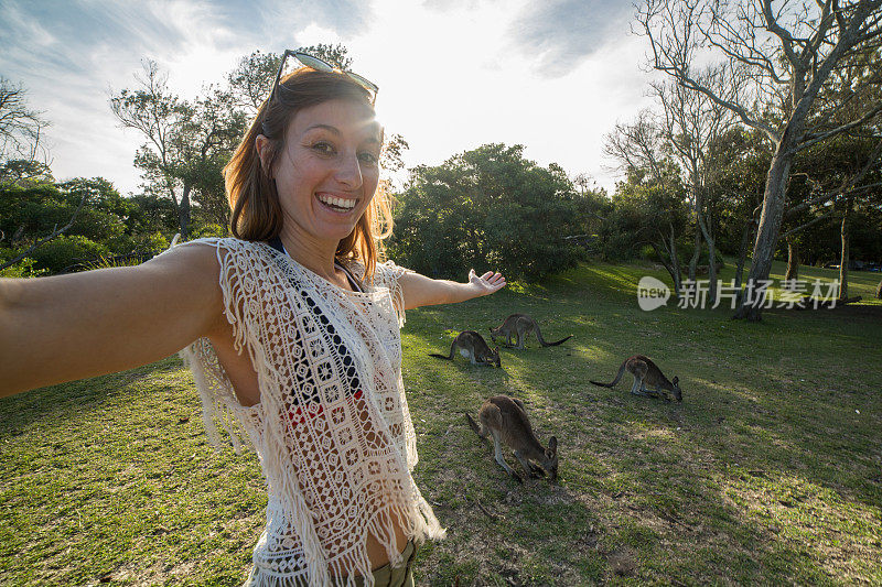
<path fill-rule="evenodd" d="M 283 230 L 336 247 L 377 189 L 380 146 L 367 105 L 329 100 L 300 110 L 275 166 Z"/>

